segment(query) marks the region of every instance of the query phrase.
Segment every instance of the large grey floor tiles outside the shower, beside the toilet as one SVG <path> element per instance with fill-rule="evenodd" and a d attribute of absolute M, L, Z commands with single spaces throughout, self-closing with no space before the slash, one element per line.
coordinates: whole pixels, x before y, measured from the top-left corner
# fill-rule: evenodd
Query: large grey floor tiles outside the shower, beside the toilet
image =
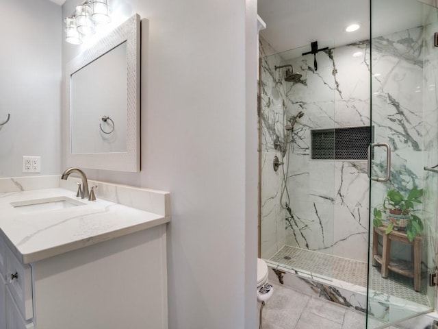
<path fill-rule="evenodd" d="M 262 329 L 365 329 L 364 313 L 298 293 L 279 284 L 272 285 L 274 295 L 263 308 Z M 411 320 L 407 327 L 389 329 L 424 329 L 431 321 L 427 319 L 426 322 L 424 319 L 422 323 L 420 320 Z"/>

